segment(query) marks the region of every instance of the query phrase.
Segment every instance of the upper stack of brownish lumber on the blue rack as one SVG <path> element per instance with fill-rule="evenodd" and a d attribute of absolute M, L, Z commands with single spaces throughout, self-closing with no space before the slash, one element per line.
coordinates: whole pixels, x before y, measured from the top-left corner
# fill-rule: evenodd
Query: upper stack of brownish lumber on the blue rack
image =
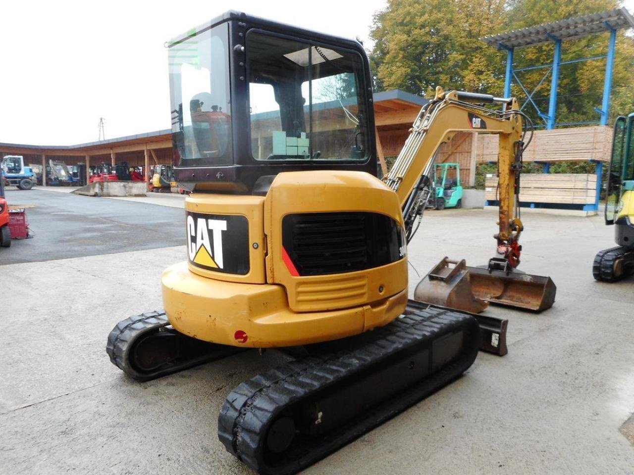
<path fill-rule="evenodd" d="M 479 134 L 475 161 L 497 162 L 498 143 L 496 135 Z M 612 127 L 607 125 L 536 130 L 523 158 L 526 162 L 609 162 L 611 148 Z"/>

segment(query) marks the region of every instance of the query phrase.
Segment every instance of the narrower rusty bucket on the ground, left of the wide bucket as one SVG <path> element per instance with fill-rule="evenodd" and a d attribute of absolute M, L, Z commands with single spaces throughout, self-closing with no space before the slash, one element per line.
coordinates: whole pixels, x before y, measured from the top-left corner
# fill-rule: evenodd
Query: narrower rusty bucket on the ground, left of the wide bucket
<path fill-rule="evenodd" d="M 467 269 L 464 259 L 455 261 L 444 257 L 422 281 L 418 282 L 414 299 L 431 305 L 479 314 L 489 304 L 474 295 Z"/>

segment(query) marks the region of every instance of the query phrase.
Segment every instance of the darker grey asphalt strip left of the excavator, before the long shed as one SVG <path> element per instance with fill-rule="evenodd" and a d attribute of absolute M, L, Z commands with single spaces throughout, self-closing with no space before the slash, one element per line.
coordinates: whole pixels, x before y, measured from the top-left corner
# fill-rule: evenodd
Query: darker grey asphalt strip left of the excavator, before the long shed
<path fill-rule="evenodd" d="M 39 262 L 162 248 L 183 243 L 183 210 L 71 193 L 6 190 L 27 209 L 33 239 L 14 239 L 0 264 Z M 4 250 L 3 250 L 4 251 Z"/>

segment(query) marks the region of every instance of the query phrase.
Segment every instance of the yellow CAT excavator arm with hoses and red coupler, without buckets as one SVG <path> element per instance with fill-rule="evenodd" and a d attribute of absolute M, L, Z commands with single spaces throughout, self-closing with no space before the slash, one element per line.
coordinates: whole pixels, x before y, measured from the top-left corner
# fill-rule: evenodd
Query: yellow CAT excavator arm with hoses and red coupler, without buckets
<path fill-rule="evenodd" d="M 501 110 L 479 104 L 501 105 Z M 496 134 L 500 137 L 498 155 L 498 190 L 500 201 L 497 257 L 489 269 L 507 271 L 519 264 L 522 232 L 517 194 L 522 168 L 522 113 L 515 98 L 495 98 L 488 94 L 450 91 L 436 88 L 436 97 L 418 113 L 410 136 L 394 167 L 384 182 L 398 194 L 408 241 L 418 229 L 432 188 L 434 158 L 441 145 L 451 141 L 458 132 Z"/>

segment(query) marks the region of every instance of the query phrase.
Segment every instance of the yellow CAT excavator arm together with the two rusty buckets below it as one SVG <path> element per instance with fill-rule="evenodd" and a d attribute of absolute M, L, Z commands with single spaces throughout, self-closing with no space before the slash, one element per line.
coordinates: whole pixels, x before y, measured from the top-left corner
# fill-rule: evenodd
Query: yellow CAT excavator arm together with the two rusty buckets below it
<path fill-rule="evenodd" d="M 498 109 L 483 104 L 496 105 Z M 486 302 L 509 307 L 545 310 L 555 300 L 550 277 L 515 270 L 520 263 L 519 182 L 524 143 L 522 117 L 515 98 L 436 88 L 436 97 L 418 113 L 410 136 L 384 182 L 398 195 L 409 242 L 420 225 L 432 192 L 434 158 L 458 132 L 496 134 L 498 149 L 497 190 L 499 201 L 496 252 L 484 267 L 467 267 L 464 260 L 444 258 L 418 284 L 416 300 L 481 312 Z M 527 120 L 529 120 L 527 118 Z M 529 122 L 530 123 L 530 122 Z M 531 127 L 532 129 L 532 127 Z M 532 131 L 531 131 L 532 135 Z"/>

